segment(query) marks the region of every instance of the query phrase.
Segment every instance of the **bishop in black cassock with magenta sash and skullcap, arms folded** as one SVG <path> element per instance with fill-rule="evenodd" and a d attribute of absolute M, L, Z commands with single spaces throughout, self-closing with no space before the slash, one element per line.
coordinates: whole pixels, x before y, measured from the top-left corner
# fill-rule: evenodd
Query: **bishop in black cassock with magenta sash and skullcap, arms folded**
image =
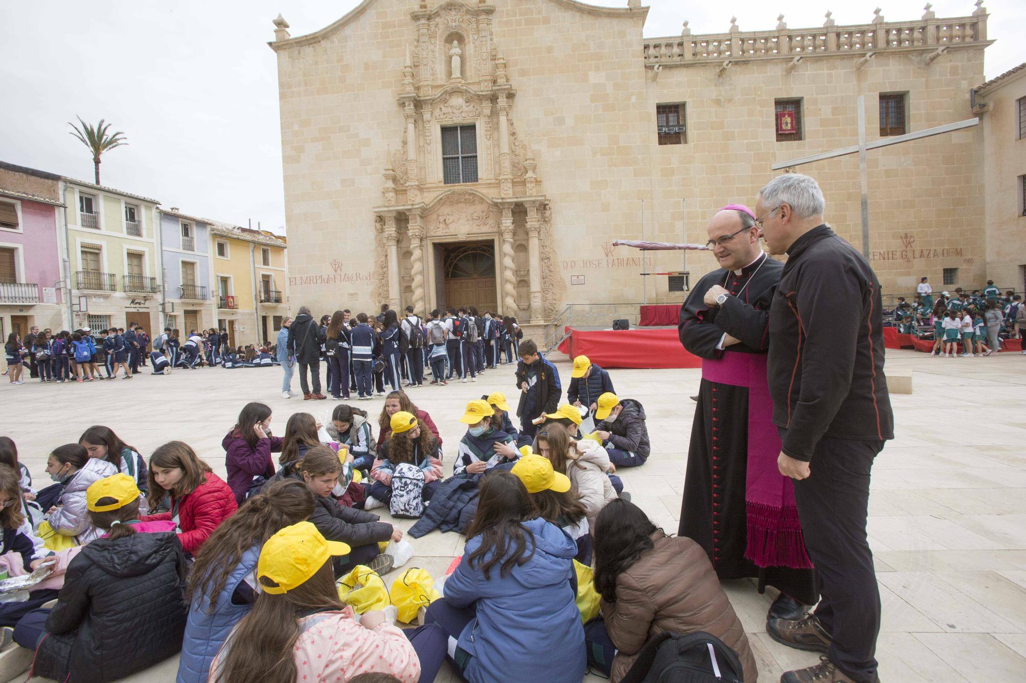
<path fill-rule="evenodd" d="M 784 265 L 759 245 L 755 216 L 720 210 L 710 246 L 723 268 L 699 280 L 680 311 L 680 342 L 702 361 L 679 533 L 721 579 L 758 577 L 781 592 L 772 616 L 815 604 L 793 483 L 777 469 L 780 438 L 766 383 L 770 304 Z"/>

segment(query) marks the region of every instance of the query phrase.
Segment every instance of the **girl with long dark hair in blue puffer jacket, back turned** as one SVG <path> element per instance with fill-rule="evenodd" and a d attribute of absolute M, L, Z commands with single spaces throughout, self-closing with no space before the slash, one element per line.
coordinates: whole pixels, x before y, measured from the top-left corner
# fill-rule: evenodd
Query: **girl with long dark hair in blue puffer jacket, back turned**
<path fill-rule="evenodd" d="M 463 560 L 428 607 L 426 621 L 457 639 L 452 660 L 474 683 L 511 680 L 511 672 L 518 681 L 580 683 L 587 668 L 574 602 L 577 546 L 537 517 L 527 496 L 508 472 L 482 479 Z"/>

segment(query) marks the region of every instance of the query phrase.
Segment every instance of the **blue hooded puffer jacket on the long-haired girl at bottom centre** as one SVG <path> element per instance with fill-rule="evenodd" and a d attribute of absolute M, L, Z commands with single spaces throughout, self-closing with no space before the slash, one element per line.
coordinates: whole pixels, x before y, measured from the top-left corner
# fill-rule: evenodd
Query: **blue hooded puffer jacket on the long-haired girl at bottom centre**
<path fill-rule="evenodd" d="M 459 645 L 472 655 L 465 676 L 471 683 L 519 681 L 580 683 L 587 669 L 581 612 L 571 560 L 577 545 L 566 533 L 543 519 L 523 526 L 535 535 L 535 554 L 513 565 L 506 576 L 500 566 L 488 579 L 480 565 L 466 558 L 481 545 L 481 536 L 467 541 L 464 561 L 445 580 L 445 601 L 455 607 L 477 602 L 477 616 L 460 634 Z M 559 656 L 544 656 L 558 645 Z"/>

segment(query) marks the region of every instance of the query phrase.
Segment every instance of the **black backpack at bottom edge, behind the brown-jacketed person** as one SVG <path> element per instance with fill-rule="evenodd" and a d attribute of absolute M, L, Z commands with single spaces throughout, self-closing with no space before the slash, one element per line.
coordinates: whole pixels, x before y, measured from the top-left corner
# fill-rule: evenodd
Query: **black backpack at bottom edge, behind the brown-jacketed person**
<path fill-rule="evenodd" d="M 667 631 L 641 648 L 621 683 L 744 683 L 738 654 L 716 636 Z"/>

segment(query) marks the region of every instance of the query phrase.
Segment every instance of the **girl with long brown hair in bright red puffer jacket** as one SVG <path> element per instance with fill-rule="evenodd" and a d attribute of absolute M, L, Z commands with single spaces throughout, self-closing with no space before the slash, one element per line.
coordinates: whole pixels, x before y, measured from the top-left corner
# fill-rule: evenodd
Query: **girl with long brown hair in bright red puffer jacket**
<path fill-rule="evenodd" d="M 150 456 L 150 508 L 156 509 L 165 495 L 171 499 L 170 511 L 143 521 L 176 521 L 182 549 L 192 555 L 238 509 L 228 484 L 183 441 L 168 441 Z"/>

